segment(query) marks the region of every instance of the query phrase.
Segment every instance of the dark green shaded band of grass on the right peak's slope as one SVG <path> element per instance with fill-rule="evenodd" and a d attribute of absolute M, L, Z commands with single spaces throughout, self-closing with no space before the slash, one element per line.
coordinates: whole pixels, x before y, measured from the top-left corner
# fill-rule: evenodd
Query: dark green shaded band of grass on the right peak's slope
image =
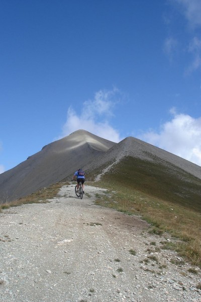
<path fill-rule="evenodd" d="M 119 170 L 121 173 L 118 173 Z M 117 172 L 114 178 L 116 182 L 125 188 L 132 188 L 201 213 L 201 180 L 169 163 L 155 164 L 127 157 L 116 165 L 114 172 Z M 107 175 L 103 178 L 106 177 Z"/>

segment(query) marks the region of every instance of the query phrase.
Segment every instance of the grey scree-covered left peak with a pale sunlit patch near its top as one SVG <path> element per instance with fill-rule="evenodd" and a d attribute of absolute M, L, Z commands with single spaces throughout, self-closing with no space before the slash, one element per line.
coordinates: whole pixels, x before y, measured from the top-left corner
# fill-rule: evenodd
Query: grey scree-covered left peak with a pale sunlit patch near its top
<path fill-rule="evenodd" d="M 31 194 L 71 176 L 116 143 L 85 130 L 54 141 L 0 175 L 0 203 Z"/>

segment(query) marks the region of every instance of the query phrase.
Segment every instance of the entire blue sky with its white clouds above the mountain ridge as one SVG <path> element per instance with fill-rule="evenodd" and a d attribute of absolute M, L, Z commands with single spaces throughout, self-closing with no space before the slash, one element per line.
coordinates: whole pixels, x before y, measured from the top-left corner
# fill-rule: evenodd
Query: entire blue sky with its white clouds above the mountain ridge
<path fill-rule="evenodd" d="M 1 0 L 0 173 L 77 129 L 201 166 L 200 0 Z"/>

